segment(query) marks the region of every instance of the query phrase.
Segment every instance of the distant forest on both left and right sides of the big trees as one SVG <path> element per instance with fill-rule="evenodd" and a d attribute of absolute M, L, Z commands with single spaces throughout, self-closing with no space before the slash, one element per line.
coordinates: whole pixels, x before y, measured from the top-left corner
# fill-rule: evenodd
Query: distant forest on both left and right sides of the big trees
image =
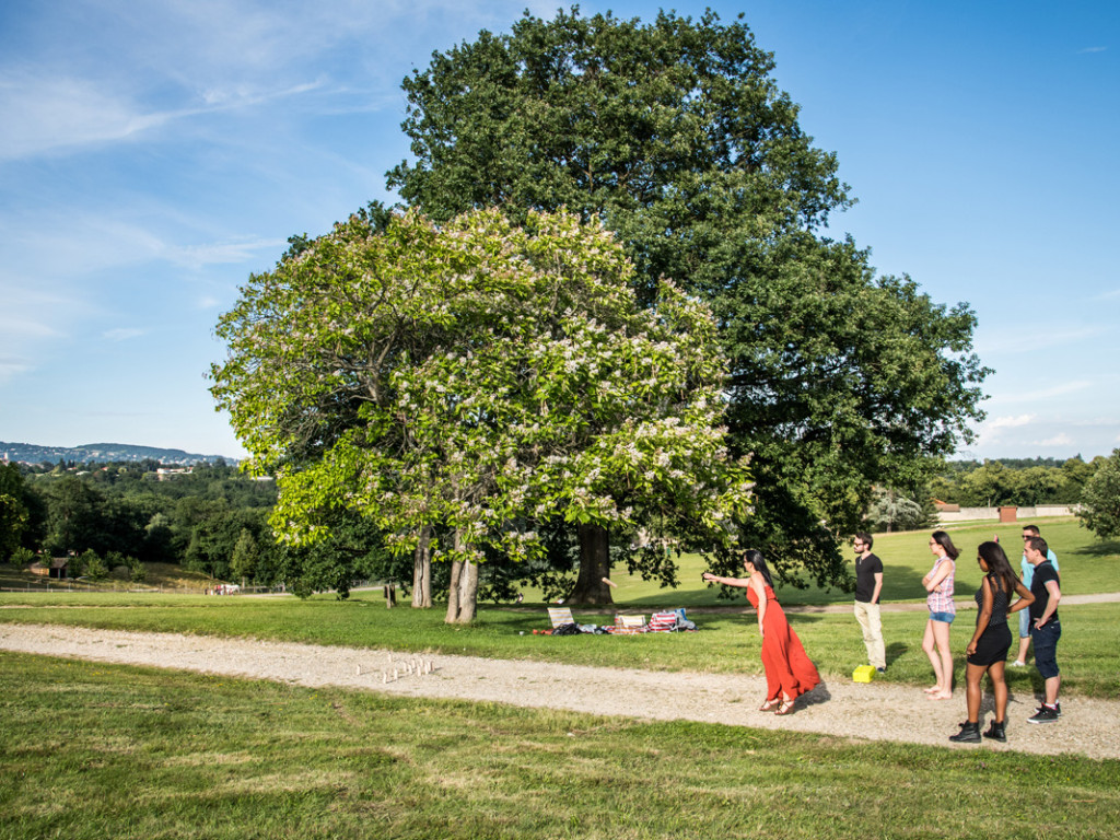
<path fill-rule="evenodd" d="M 949 461 L 926 486 L 879 488 L 868 524 L 928 526 L 934 500 L 962 506 L 1076 504 L 1104 460 Z M 276 498 L 273 482 L 249 478 L 224 461 L 178 468 L 152 458 L 0 464 L 0 562 L 69 557 L 73 577 L 125 566 L 137 580 L 144 563 L 169 562 L 217 580 L 283 584 L 299 594 L 345 594 L 361 578 L 411 581 L 412 558 L 390 554 L 376 529 L 353 514 L 339 514 L 332 536 L 314 548 L 278 544 L 268 521 Z M 486 566 L 484 589 L 495 595 L 508 595 L 513 581 L 532 575 L 501 558 Z M 433 572 L 446 575 L 439 566 Z"/>

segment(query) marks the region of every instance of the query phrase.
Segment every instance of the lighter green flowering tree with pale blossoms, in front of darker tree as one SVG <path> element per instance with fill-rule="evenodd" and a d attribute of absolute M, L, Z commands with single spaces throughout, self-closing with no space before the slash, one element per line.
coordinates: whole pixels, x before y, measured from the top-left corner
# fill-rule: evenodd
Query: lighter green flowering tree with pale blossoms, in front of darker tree
<path fill-rule="evenodd" d="M 279 538 L 315 542 L 339 508 L 399 552 L 435 535 L 449 622 L 474 617 L 484 551 L 532 557 L 558 513 L 729 539 L 750 482 L 724 445 L 715 325 L 668 282 L 640 307 L 632 273 L 598 224 L 480 211 L 352 218 L 250 278 L 212 391 L 249 469 L 278 476 Z"/>

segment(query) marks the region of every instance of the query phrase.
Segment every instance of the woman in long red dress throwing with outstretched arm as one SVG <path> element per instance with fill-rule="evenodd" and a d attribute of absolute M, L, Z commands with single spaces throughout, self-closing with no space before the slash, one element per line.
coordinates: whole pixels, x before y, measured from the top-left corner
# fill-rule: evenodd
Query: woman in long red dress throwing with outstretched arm
<path fill-rule="evenodd" d="M 774 597 L 774 581 L 762 552 L 747 549 L 743 556 L 743 568 L 747 572 L 746 578 L 721 578 L 704 572 L 703 579 L 747 590 L 750 606 L 758 610 L 763 668 L 766 669 L 766 702 L 758 710 L 788 715 L 793 711 L 793 701 L 815 688 L 821 676 L 786 620 L 782 605 Z"/>

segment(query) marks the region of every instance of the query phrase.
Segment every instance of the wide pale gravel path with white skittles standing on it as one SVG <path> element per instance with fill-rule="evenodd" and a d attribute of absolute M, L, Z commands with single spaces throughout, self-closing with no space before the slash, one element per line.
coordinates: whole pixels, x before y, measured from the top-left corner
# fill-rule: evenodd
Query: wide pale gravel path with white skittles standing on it
<path fill-rule="evenodd" d="M 403 697 L 512 703 L 652 720 L 698 720 L 936 746 L 949 746 L 948 736 L 964 719 L 963 688 L 958 689 L 952 700 L 931 701 L 913 687 L 832 680 L 799 699 L 793 715 L 776 717 L 757 711 L 766 687 L 762 676 L 753 675 L 665 673 L 449 655 L 420 660 L 368 648 L 62 625 L 0 624 L 0 650 L 308 687 L 337 685 Z M 426 672 L 429 664 L 431 671 Z M 411 672 L 410 665 L 413 665 Z M 1061 721 L 1027 724 L 1036 704 L 1029 694 L 1012 693 L 1007 715 L 1008 743 L 984 741 L 982 746 L 958 748 L 1120 758 L 1120 702 L 1064 698 Z M 990 696 L 984 698 L 982 717 L 991 718 Z"/>

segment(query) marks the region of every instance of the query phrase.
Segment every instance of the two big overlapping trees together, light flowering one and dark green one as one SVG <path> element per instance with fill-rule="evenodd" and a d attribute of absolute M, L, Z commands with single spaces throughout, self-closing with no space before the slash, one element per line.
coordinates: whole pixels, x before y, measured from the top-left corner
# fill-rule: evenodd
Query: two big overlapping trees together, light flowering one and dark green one
<path fill-rule="evenodd" d="M 571 598 L 609 601 L 638 526 L 846 585 L 838 535 L 969 440 L 987 370 L 967 305 L 822 235 L 852 199 L 773 67 L 741 16 L 573 8 L 407 78 L 403 205 L 292 237 L 220 321 L 213 390 L 280 539 L 356 516 L 418 605 L 438 552 L 449 620 L 480 562 L 571 547 Z M 629 562 L 671 579 L 654 554 Z"/>

